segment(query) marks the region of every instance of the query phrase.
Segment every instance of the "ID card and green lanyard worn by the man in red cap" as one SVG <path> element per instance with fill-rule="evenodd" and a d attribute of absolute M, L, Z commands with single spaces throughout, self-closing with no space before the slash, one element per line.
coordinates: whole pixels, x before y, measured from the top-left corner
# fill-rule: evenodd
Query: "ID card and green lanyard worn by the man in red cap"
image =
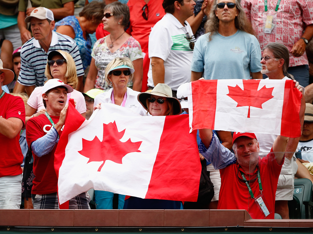
<path fill-rule="evenodd" d="M 252 199 L 254 199 L 254 202 L 256 205 L 259 207 L 260 211 L 263 213 L 264 218 L 268 216 L 270 213 L 272 213 L 271 209 L 269 208 L 269 204 L 266 202 L 266 199 L 264 195 L 262 194 L 263 188 L 262 188 L 262 183 L 261 183 L 261 176 L 260 176 L 260 170 L 258 169 L 257 176 L 258 176 L 258 183 L 259 183 L 259 189 L 261 194 L 258 197 L 254 197 L 252 189 L 249 185 L 249 182 L 247 181 L 246 177 L 244 176 L 244 173 L 240 171 L 241 177 L 246 183 L 250 196 Z"/>

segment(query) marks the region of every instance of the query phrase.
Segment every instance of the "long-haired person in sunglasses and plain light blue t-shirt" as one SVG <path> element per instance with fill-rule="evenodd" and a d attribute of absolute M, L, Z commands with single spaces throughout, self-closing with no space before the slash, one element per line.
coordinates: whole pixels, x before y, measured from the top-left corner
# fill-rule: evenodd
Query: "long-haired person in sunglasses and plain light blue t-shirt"
<path fill-rule="evenodd" d="M 206 34 L 195 43 L 191 81 L 262 79 L 261 48 L 238 0 L 215 0 Z"/>

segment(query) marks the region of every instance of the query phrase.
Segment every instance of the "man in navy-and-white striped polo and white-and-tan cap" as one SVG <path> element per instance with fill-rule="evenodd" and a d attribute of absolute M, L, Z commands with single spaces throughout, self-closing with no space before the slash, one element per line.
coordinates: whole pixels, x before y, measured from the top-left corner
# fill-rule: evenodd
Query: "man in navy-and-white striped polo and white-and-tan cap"
<path fill-rule="evenodd" d="M 84 70 L 78 47 L 72 38 L 53 32 L 55 22 L 52 11 L 37 7 L 25 18 L 25 22 L 30 22 L 34 37 L 22 46 L 21 71 L 15 91 L 23 92 L 25 89 L 30 95 L 36 86 L 44 85 L 44 80 L 47 80 L 44 76 L 47 56 L 54 50 L 66 51 L 73 57 L 79 80 L 77 90 L 82 89 Z"/>

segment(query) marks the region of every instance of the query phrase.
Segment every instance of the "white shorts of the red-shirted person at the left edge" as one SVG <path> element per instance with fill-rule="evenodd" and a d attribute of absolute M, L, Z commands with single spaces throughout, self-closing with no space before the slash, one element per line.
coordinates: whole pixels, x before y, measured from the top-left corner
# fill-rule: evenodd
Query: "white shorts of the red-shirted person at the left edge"
<path fill-rule="evenodd" d="M 0 177 L 0 209 L 20 208 L 22 177 L 22 174 Z"/>

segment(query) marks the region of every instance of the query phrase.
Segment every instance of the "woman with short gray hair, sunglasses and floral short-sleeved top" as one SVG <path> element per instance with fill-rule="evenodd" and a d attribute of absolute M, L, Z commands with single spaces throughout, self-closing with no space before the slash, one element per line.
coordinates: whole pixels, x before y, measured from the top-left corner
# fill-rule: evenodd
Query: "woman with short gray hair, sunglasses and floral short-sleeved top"
<path fill-rule="evenodd" d="M 97 88 L 109 90 L 112 86 L 105 80 L 105 68 L 116 57 L 128 57 L 134 64 L 135 73 L 128 87 L 141 91 L 143 56 L 138 41 L 125 32 L 130 19 L 126 4 L 113 2 L 105 6 L 103 29 L 109 35 L 99 39 L 91 53 L 91 64 L 85 82 L 84 92 Z"/>

